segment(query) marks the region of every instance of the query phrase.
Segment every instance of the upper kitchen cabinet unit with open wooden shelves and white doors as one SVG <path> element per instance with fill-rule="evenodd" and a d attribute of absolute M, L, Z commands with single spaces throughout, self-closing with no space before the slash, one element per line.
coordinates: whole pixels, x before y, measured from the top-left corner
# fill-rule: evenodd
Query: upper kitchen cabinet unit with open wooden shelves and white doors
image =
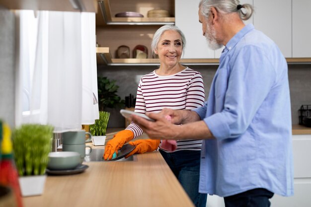
<path fill-rule="evenodd" d="M 152 59 L 151 56 L 151 40 L 156 30 L 162 24 L 176 24 L 185 34 L 186 48 L 180 63 L 187 65 L 218 65 L 219 57 L 223 48 L 213 51 L 208 48 L 205 37 L 202 35 L 202 25 L 198 20 L 198 5 L 200 0 L 193 0 L 189 3 L 188 0 L 134 0 L 129 3 L 126 0 L 100 0 L 101 5 L 109 4 L 103 12 L 98 12 L 96 15 L 96 34 L 97 42 L 109 49 L 111 56 L 110 61 L 102 61 L 98 59 L 99 64 L 119 66 L 119 65 L 158 65 L 157 59 Z M 298 28 L 298 31 L 293 31 L 292 36 L 292 0 L 276 0 L 270 2 L 268 0 L 244 0 L 242 3 L 249 3 L 254 6 L 255 12 L 252 17 L 245 21 L 245 24 L 253 23 L 255 28 L 263 31 L 272 40 L 276 42 L 280 50 L 286 57 L 289 64 L 311 64 L 311 52 L 308 44 L 311 44 L 309 34 L 311 33 L 308 23 L 301 24 L 310 19 L 308 13 L 308 0 L 293 0 L 293 28 Z M 306 1 L 306 3 L 304 3 Z M 280 6 L 282 5 L 282 6 Z M 151 20 L 150 18 L 115 18 L 116 13 L 132 10 L 144 15 L 147 11 L 153 8 L 163 8 L 175 17 L 170 17 L 168 21 L 164 19 Z M 107 6 L 105 7 L 107 8 Z M 276 11 L 275 8 L 278 8 Z M 306 12 L 300 14 L 301 9 Z M 103 15 L 109 14 L 107 22 L 103 21 Z M 297 15 L 296 15 L 297 13 Z M 300 14 L 300 15 L 299 15 Z M 118 20 L 119 19 L 119 20 Z M 298 22 L 298 23 L 295 23 Z M 295 26 L 296 25 L 296 26 Z M 304 40 L 300 38 L 301 28 L 306 31 L 303 35 Z M 296 38 L 296 39 L 295 39 Z M 293 39 L 293 41 L 292 41 Z M 308 43 L 308 44 L 306 44 Z M 115 51 L 121 45 L 127 45 L 132 50 L 138 44 L 148 47 L 148 59 L 116 59 Z M 293 46 L 292 46 L 293 45 Z M 299 48 L 303 48 L 299 51 Z M 293 55 L 292 55 L 293 53 Z M 305 54 L 305 55 L 304 55 Z M 103 55 L 98 57 L 103 57 Z"/>

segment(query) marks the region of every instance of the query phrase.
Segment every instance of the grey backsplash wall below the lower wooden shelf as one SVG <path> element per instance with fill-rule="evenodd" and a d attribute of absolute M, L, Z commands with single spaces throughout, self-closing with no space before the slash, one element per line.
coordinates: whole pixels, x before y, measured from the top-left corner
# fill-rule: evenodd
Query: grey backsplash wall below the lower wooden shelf
<path fill-rule="evenodd" d="M 206 98 L 217 66 L 190 66 L 199 71 L 204 80 Z M 130 93 L 136 94 L 140 77 L 156 69 L 156 66 L 98 66 L 97 74 L 117 80 L 120 86 L 118 94 L 121 98 Z M 298 109 L 302 104 L 311 104 L 311 65 L 289 65 L 289 83 L 292 105 L 292 123 L 298 124 Z M 112 111 L 108 127 L 124 127 L 124 119 Z"/>

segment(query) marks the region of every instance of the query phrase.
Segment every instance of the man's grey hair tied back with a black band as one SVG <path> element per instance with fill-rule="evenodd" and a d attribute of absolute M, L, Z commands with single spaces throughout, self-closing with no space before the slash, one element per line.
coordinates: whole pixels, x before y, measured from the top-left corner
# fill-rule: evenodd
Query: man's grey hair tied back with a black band
<path fill-rule="evenodd" d="M 238 12 L 242 20 L 247 20 L 251 17 L 254 12 L 252 5 L 244 3 L 241 8 L 238 9 L 239 0 L 201 0 L 199 8 L 201 8 L 202 15 L 208 17 L 210 8 L 215 7 L 218 11 L 223 13 Z M 242 8 L 244 11 L 242 11 Z"/>

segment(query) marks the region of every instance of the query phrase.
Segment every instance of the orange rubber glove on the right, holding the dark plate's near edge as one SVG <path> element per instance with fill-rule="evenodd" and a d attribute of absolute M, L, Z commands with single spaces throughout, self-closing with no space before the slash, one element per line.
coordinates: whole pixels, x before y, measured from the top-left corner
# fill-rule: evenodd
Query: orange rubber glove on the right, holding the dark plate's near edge
<path fill-rule="evenodd" d="M 129 144 L 136 147 L 133 151 L 126 155 L 125 158 L 128 158 L 135 153 L 143 154 L 145 152 L 152 152 L 156 150 L 160 144 L 160 139 L 138 139 L 136 141 L 130 141 Z"/>

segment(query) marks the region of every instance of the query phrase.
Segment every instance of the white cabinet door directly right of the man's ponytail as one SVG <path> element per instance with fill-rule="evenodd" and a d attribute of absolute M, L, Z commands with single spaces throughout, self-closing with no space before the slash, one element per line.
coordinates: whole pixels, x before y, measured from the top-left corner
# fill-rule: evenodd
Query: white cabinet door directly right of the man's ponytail
<path fill-rule="evenodd" d="M 254 0 L 254 26 L 292 57 L 292 0 Z"/>

